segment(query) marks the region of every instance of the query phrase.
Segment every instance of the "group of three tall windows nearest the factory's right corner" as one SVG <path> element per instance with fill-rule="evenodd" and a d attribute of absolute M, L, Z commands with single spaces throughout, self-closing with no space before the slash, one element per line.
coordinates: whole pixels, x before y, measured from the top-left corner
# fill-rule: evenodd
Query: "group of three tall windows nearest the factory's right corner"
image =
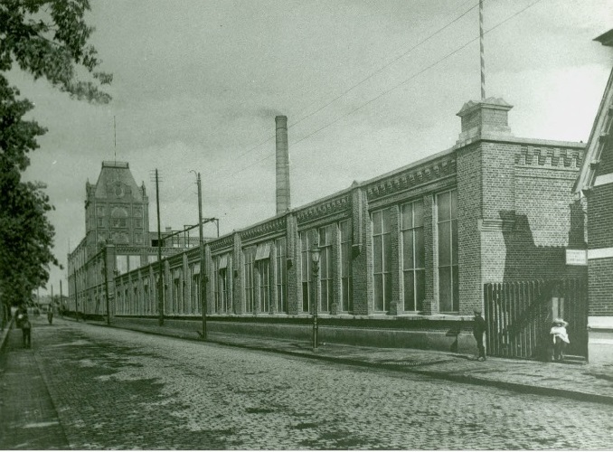
<path fill-rule="evenodd" d="M 457 191 L 438 193 L 436 248 L 439 265 L 439 312 L 459 311 L 457 247 Z M 374 310 L 391 304 L 391 215 L 389 209 L 372 213 Z M 426 297 L 424 211 L 421 200 L 401 205 L 401 302 L 405 312 L 423 310 Z"/>

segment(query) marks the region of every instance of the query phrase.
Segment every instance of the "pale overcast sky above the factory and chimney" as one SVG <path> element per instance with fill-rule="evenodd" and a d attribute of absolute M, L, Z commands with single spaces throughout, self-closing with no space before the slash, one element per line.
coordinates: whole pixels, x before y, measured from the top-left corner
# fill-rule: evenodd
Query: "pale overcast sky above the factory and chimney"
<path fill-rule="evenodd" d="M 480 96 L 477 5 L 91 2 L 91 42 L 114 74 L 110 104 L 11 74 L 49 128 L 26 177 L 48 184 L 56 256 L 65 266 L 69 242 L 83 239 L 85 183 L 115 153 L 146 184 L 152 231 L 158 168 L 162 228 L 197 222 L 193 170 L 203 216 L 218 217 L 223 234 L 275 214 L 276 115 L 290 126 L 292 207 L 448 149 L 457 111 Z M 486 95 L 514 106 L 514 136 L 587 141 L 613 62 L 592 40 L 613 27 L 613 0 L 486 0 L 484 9 Z M 61 278 L 66 293 L 65 272 L 52 268 L 47 289 L 59 293 Z"/>

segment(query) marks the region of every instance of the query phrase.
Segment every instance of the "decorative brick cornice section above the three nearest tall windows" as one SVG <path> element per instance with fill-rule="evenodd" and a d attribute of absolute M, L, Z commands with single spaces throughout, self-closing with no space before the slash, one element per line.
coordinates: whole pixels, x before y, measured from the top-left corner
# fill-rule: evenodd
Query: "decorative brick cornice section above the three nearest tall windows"
<path fill-rule="evenodd" d="M 448 156 L 435 162 L 429 162 L 428 165 L 410 168 L 402 173 L 393 174 L 376 183 L 369 184 L 366 188 L 366 194 L 369 201 L 378 200 L 409 190 L 411 187 L 436 182 L 439 179 L 456 174 L 456 171 L 456 157 Z"/>

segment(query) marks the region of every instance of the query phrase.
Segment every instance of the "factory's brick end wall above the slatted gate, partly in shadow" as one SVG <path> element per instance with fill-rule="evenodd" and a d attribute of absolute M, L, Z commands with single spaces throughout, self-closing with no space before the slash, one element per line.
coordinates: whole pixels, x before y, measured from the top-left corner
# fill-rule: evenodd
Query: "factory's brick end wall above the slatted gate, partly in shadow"
<path fill-rule="evenodd" d="M 582 212 L 571 196 L 581 154 L 484 144 L 484 282 L 576 273 L 566 267 L 564 249 L 583 240 Z"/>

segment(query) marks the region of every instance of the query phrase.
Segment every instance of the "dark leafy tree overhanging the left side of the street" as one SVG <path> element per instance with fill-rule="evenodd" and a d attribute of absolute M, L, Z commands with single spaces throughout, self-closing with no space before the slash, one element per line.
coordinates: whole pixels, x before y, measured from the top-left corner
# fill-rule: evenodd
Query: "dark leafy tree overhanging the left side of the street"
<path fill-rule="evenodd" d="M 42 183 L 24 182 L 29 154 L 46 129 L 24 115 L 33 103 L 5 77 L 19 68 L 34 80 L 73 99 L 108 103 L 102 90 L 112 76 L 97 71 L 96 49 L 88 43 L 93 28 L 85 22 L 88 0 L 0 0 L 0 297 L 5 306 L 30 299 L 44 287 L 53 256 L 55 231 L 47 218 L 53 209 Z M 4 319 L 2 319 L 4 320 Z"/>

